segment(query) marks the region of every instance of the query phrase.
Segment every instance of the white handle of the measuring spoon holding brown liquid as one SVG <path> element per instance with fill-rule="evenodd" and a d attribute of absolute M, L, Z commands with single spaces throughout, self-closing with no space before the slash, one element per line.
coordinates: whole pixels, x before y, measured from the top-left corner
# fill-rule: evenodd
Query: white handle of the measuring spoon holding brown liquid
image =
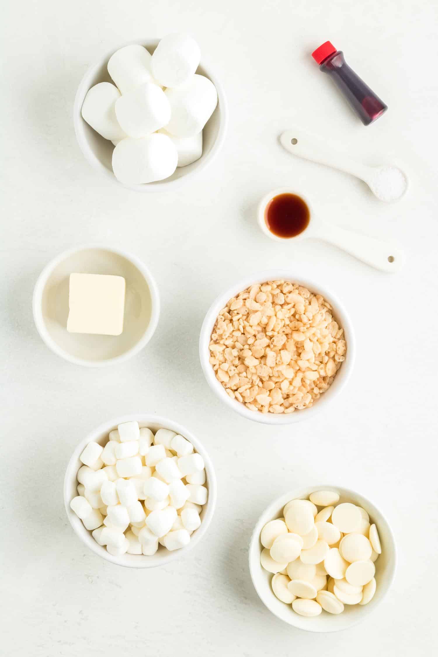
<path fill-rule="evenodd" d="M 400 271 L 405 263 L 403 252 L 395 244 L 321 221 L 317 227 L 314 225 L 312 237 L 334 244 L 367 265 L 387 273 Z"/>

